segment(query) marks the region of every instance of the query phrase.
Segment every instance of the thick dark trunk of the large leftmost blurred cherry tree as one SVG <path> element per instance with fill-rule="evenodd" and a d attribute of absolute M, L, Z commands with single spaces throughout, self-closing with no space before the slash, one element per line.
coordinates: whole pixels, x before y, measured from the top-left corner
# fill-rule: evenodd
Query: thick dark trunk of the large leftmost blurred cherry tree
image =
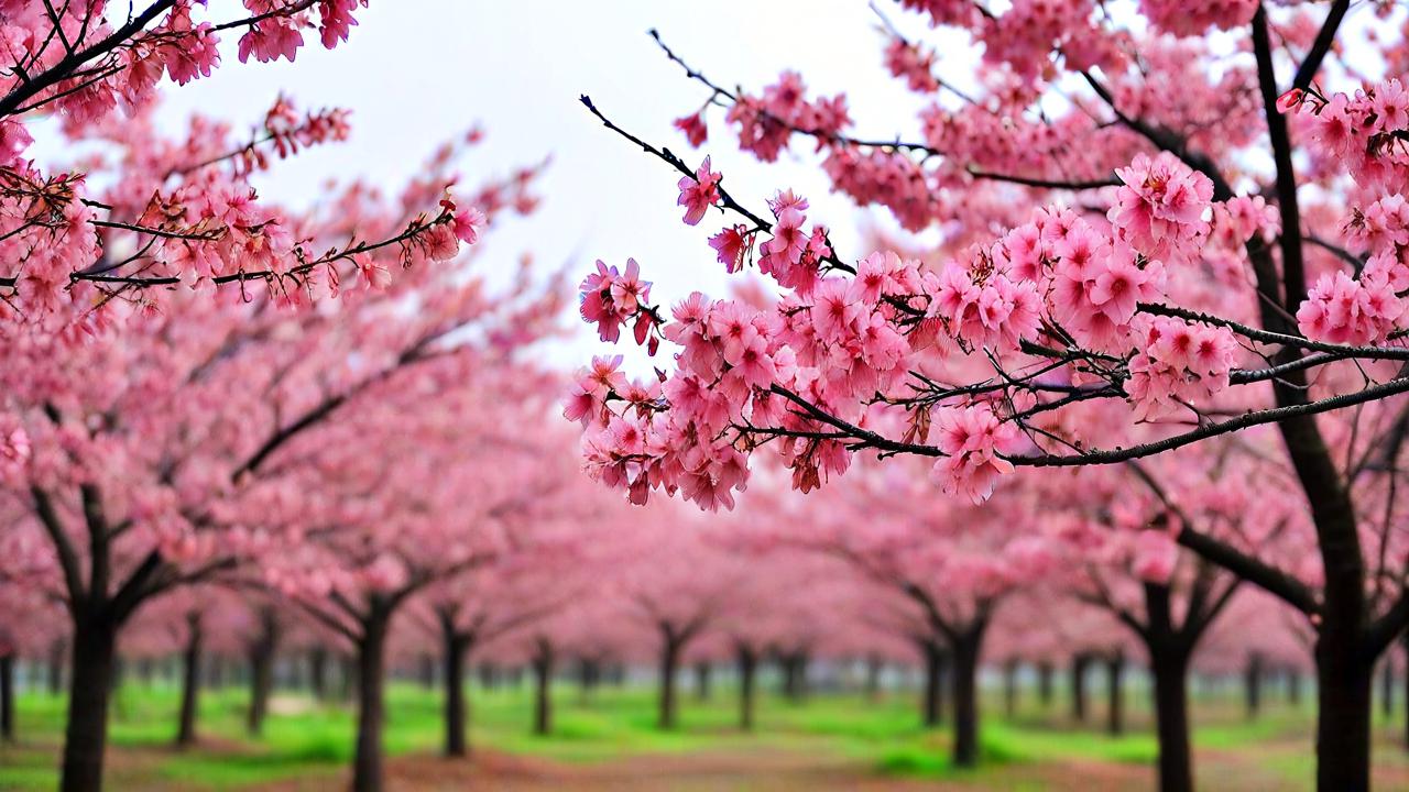
<path fill-rule="evenodd" d="M 107 705 L 111 695 L 108 682 L 113 678 L 116 644 L 117 626 L 110 619 L 82 616 L 75 620 L 61 792 L 103 789 L 103 751 L 107 745 Z M 56 665 L 62 667 L 62 661 Z M 51 671 L 54 668 L 51 665 Z"/>

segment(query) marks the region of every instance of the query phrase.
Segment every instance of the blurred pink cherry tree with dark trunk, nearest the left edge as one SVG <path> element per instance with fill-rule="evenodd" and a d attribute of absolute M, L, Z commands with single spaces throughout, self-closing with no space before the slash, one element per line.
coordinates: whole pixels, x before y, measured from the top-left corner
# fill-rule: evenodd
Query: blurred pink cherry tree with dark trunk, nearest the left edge
<path fill-rule="evenodd" d="M 131 154 L 161 162 L 151 148 L 138 138 Z M 396 202 L 354 185 L 335 196 L 335 210 L 300 224 L 311 238 L 402 227 L 418 214 L 414 206 L 434 203 L 455 180 L 455 154 L 452 147 L 438 155 Z M 480 190 L 478 221 L 516 203 L 530 209 L 523 192 L 530 179 L 524 172 Z M 528 310 L 527 282 L 490 299 L 462 268 L 428 266 L 430 258 L 455 255 L 454 235 L 440 248 L 427 244 L 416 237 L 358 254 L 344 273 L 348 287 L 361 278 L 358 290 L 318 310 L 290 310 L 311 296 L 303 290 L 214 300 L 168 295 L 159 310 L 110 303 L 104 316 L 121 318 L 121 327 L 62 355 L 61 335 L 7 347 L 6 434 L 23 438 L 23 454 L 6 468 L 7 507 L 27 513 L 27 530 L 46 537 L 56 572 L 51 590 L 73 620 L 66 789 L 100 784 L 108 686 L 97 681 L 110 675 L 114 640 L 132 614 L 175 588 L 302 541 L 293 526 L 245 519 L 300 496 L 299 476 L 266 474 L 271 461 L 316 428 L 349 421 L 362 404 L 409 386 L 413 375 L 445 376 L 545 326 L 517 313 Z M 400 269 L 403 256 L 427 266 L 387 283 L 382 273 Z M 333 272 L 318 286 L 325 293 L 338 289 Z M 420 309 L 414 317 L 406 316 L 409 306 Z M 551 314 L 542 300 L 531 310 Z M 479 352 L 457 341 L 471 331 L 483 334 Z"/>

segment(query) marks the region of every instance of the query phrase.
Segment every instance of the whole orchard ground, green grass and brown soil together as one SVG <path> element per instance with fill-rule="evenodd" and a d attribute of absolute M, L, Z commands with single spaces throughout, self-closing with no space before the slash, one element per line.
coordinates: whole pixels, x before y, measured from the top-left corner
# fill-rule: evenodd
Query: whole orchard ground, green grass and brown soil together
<path fill-rule="evenodd" d="M 440 696 L 418 685 L 392 686 L 387 750 L 392 789 L 495 789 L 506 792 L 604 791 L 871 791 L 909 789 L 1151 789 L 1155 744 L 1138 686 L 1127 693 L 1129 733 L 1103 733 L 1093 699 L 1088 724 L 1074 724 L 1065 706 L 1024 702 L 1019 714 L 989 714 L 985 762 L 960 771 L 944 761 L 947 733 L 919 727 L 913 692 L 879 700 L 814 695 L 805 703 L 759 700 L 758 729 L 734 729 L 735 702 L 720 686 L 710 700 L 685 696 L 675 733 L 654 727 L 647 686 L 599 689 L 588 699 L 564 683 L 551 737 L 530 734 L 531 700 L 523 689 L 475 689 L 471 761 L 437 753 Z M 352 714 L 340 703 L 317 705 L 280 692 L 265 734 L 248 738 L 244 691 L 207 691 L 201 743 L 170 747 L 176 693 L 165 685 L 125 685 L 113 713 L 108 789 L 154 792 L 304 792 L 344 786 L 352 745 Z M 985 702 L 995 713 L 998 702 Z M 1401 713 L 1402 717 L 1402 713 Z M 20 744 L 0 747 L 0 791 L 52 789 L 62 700 L 42 692 L 20 698 Z M 1268 703 L 1248 720 L 1236 691 L 1203 691 L 1195 700 L 1199 789 L 1309 789 L 1313 772 L 1310 705 Z M 1378 724 L 1375 779 L 1379 789 L 1409 789 L 1409 753 L 1402 722 Z"/>

